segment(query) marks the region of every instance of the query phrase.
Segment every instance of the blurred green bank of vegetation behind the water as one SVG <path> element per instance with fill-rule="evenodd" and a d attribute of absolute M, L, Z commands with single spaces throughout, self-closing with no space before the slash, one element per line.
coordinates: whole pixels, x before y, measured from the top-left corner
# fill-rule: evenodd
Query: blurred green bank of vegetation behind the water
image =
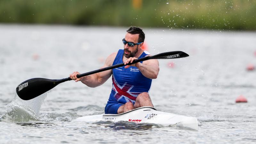
<path fill-rule="evenodd" d="M 256 30 L 256 0 L 0 0 L 0 23 Z"/>

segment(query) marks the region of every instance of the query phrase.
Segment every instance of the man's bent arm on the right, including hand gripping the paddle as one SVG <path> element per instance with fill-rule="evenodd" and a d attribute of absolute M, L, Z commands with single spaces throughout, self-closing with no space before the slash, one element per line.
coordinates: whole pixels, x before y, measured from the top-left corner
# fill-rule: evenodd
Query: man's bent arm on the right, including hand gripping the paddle
<path fill-rule="evenodd" d="M 131 57 L 129 59 L 127 59 L 124 64 L 127 64 L 129 62 L 132 62 L 133 60 L 136 60 L 137 58 L 135 57 Z M 159 72 L 159 62 L 156 59 L 152 59 L 152 60 L 146 60 L 143 61 L 143 63 L 135 63 L 132 65 L 127 65 L 124 68 L 129 68 L 130 66 L 134 66 L 137 67 L 140 72 L 142 73 L 143 76 L 150 78 L 150 79 L 155 79 L 158 76 L 158 72 Z"/>

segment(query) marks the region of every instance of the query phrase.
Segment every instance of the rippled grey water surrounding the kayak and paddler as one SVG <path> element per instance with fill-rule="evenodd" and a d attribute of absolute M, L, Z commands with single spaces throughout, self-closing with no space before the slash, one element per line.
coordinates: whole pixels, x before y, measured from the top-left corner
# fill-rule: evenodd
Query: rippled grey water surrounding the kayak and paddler
<path fill-rule="evenodd" d="M 0 25 L 0 143 L 255 143 L 256 33 L 143 28 L 148 52 L 184 51 L 159 60 L 149 92 L 157 110 L 193 116 L 198 131 L 153 124 L 84 123 L 104 113 L 112 82 L 59 84 L 24 101 L 15 90 L 35 77 L 61 79 L 99 69 L 123 48 L 126 27 Z M 247 103 L 236 103 L 244 95 Z"/>

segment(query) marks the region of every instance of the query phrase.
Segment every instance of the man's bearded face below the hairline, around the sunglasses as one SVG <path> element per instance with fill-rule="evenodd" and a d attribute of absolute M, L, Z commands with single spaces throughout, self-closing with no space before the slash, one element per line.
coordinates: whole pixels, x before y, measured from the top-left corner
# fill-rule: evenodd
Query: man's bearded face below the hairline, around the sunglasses
<path fill-rule="evenodd" d="M 136 43 L 138 43 L 139 34 L 126 33 L 124 39 L 127 42 L 132 42 L 132 43 L 136 44 Z M 142 46 L 142 44 L 139 44 L 139 45 L 136 44 L 134 46 L 129 46 L 128 44 L 125 44 L 124 45 L 124 56 L 126 58 L 134 57 L 135 54 L 138 52 L 138 49 Z"/>

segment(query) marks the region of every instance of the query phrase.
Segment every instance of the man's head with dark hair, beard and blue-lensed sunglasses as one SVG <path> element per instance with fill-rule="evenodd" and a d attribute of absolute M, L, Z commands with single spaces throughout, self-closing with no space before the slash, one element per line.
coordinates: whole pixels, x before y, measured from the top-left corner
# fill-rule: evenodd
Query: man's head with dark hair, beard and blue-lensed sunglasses
<path fill-rule="evenodd" d="M 124 56 L 126 58 L 134 57 L 138 49 L 142 47 L 145 34 L 141 28 L 130 27 L 126 31 L 126 35 L 123 39 L 124 43 Z"/>

